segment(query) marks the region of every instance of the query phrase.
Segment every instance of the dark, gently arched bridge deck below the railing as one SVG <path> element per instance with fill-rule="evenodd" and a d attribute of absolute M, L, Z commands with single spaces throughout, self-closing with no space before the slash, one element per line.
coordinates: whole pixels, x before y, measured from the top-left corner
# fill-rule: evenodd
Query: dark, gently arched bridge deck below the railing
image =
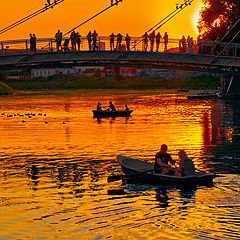
<path fill-rule="evenodd" d="M 139 66 L 240 72 L 240 58 L 144 51 L 67 51 L 0 56 L 0 69 L 22 66 Z"/>

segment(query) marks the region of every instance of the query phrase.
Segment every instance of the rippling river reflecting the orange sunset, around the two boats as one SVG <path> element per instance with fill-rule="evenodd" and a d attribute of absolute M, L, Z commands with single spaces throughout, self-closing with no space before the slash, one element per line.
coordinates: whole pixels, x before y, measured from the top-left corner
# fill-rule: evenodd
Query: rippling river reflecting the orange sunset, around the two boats
<path fill-rule="evenodd" d="M 97 102 L 129 118 L 94 119 Z M 0 98 L 0 239 L 240 239 L 240 101 L 74 90 Z M 107 183 L 116 155 L 185 149 L 211 186 Z"/>

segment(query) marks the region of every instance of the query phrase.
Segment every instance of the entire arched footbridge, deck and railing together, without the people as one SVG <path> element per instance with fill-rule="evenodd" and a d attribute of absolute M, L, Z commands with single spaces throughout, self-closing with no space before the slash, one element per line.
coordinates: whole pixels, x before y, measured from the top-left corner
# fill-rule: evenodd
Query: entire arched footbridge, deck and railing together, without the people
<path fill-rule="evenodd" d="M 55 39 L 38 39 L 36 52 L 29 51 L 28 39 L 5 41 L 1 42 L 0 70 L 57 66 L 134 66 L 240 75 L 240 58 L 237 56 L 240 44 L 194 42 L 192 53 L 180 53 L 179 39 L 169 39 L 167 51 L 164 51 L 161 40 L 159 51 L 154 52 L 144 51 L 142 45 L 134 46 L 136 39 L 139 38 L 132 38 L 132 51 L 126 51 L 124 43 L 120 51 L 111 51 L 109 37 L 98 37 L 96 51 L 87 50 L 86 38 L 81 39 L 79 50 L 68 48 L 67 51 L 57 51 Z M 216 55 L 217 44 L 220 49 L 224 49 L 221 56 Z"/>

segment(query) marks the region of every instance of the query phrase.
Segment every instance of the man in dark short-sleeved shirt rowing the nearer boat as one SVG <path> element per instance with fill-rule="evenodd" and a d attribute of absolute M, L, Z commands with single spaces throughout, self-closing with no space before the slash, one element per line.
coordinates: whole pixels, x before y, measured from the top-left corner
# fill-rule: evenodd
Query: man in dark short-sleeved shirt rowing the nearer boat
<path fill-rule="evenodd" d="M 174 175 L 181 176 L 182 175 L 182 164 L 183 160 L 179 162 L 179 168 L 175 168 L 175 171 L 172 170 L 171 165 L 175 165 L 176 160 L 173 160 L 171 155 L 167 153 L 168 147 L 166 144 L 161 145 L 161 150 L 155 156 L 155 165 L 154 168 L 157 170 L 156 172 L 164 174 L 164 175 Z"/>

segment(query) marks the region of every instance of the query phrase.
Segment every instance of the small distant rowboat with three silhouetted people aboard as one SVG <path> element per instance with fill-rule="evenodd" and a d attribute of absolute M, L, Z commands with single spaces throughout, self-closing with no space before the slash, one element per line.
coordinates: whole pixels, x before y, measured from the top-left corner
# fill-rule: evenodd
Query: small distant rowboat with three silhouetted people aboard
<path fill-rule="evenodd" d="M 104 118 L 104 117 L 129 117 L 133 110 L 130 110 L 125 105 L 125 110 L 116 110 L 114 104 L 110 101 L 109 106 L 107 106 L 106 110 L 102 109 L 102 104 L 98 102 L 97 110 L 93 110 L 93 117 L 94 118 Z"/>

